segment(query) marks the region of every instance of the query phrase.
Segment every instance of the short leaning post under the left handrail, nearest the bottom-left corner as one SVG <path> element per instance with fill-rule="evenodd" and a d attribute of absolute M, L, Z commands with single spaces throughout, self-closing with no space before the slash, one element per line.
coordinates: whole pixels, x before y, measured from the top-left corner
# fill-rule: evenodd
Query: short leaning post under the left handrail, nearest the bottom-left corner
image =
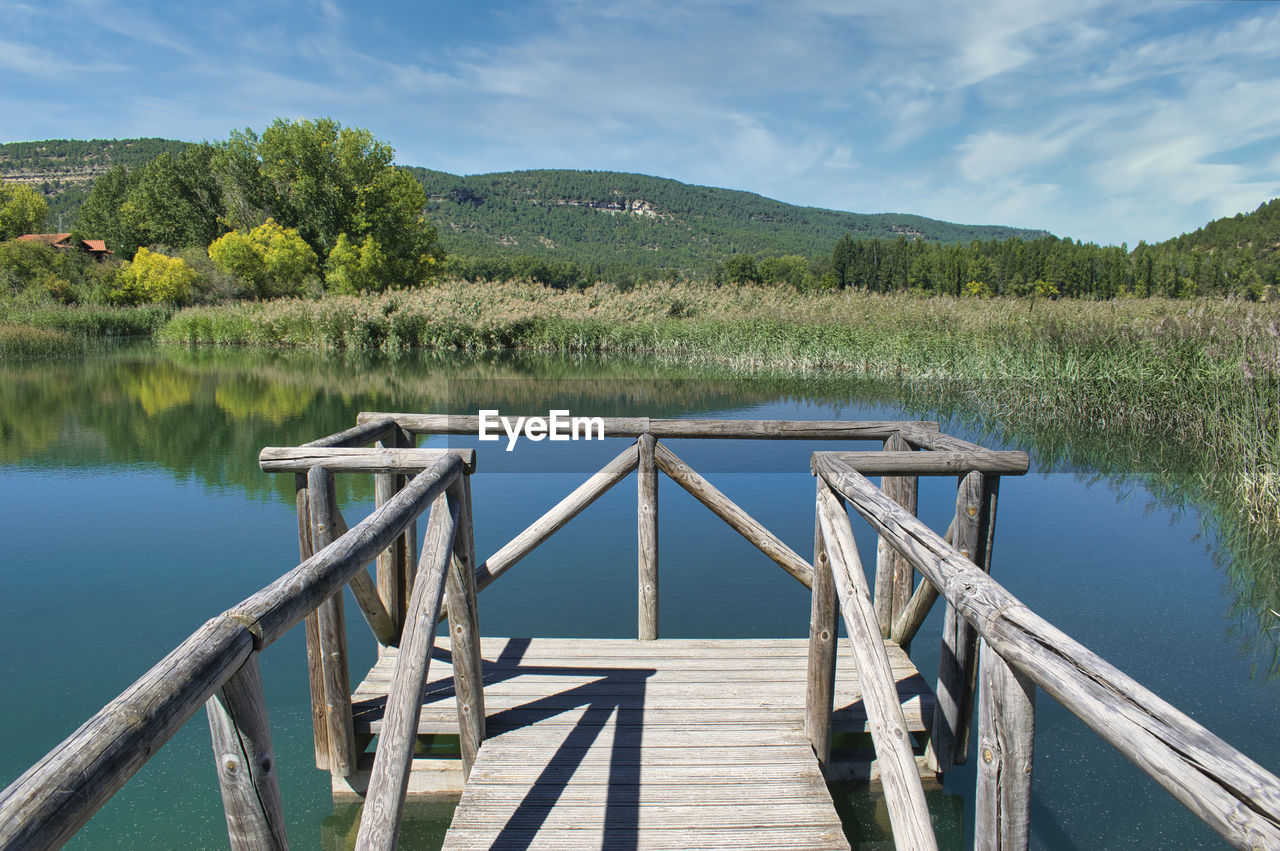
<path fill-rule="evenodd" d="M 232 848 L 288 848 L 257 654 L 205 703 Z"/>

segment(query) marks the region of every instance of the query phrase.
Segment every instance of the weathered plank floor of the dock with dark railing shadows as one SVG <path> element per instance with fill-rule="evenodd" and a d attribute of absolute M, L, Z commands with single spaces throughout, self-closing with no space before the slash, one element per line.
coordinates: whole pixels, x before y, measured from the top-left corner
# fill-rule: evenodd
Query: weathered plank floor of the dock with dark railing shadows
<path fill-rule="evenodd" d="M 808 640 L 484 639 L 481 651 L 489 738 L 447 848 L 849 847 L 804 733 Z M 924 731 L 933 695 L 897 645 L 890 659 L 908 726 Z M 356 690 L 357 732 L 380 731 L 394 664 L 392 650 Z M 864 731 L 840 664 L 836 729 Z M 447 639 L 428 680 L 419 732 L 457 732 Z M 433 769 L 415 760 L 411 795 Z"/>

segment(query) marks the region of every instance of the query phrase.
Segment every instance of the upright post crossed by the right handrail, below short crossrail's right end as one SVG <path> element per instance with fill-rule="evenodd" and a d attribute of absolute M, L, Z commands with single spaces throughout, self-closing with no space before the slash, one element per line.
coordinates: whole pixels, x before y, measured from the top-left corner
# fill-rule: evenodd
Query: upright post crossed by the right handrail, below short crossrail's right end
<path fill-rule="evenodd" d="M 956 490 L 952 544 L 984 571 L 991 569 L 991 532 L 995 527 L 998 479 L 972 472 Z M 969 727 L 978 673 L 978 633 L 954 605 L 947 605 L 938 660 L 938 703 L 933 712 L 929 763 L 941 774 L 969 758 Z"/>

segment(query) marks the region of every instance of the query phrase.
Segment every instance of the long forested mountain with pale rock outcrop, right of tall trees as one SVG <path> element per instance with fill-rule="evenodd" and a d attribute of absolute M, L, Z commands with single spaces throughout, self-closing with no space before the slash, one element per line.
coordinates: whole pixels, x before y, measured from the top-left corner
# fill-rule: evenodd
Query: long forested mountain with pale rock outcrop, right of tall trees
<path fill-rule="evenodd" d="M 909 214 L 800 207 L 751 192 L 618 171 L 534 170 L 460 177 L 408 169 L 428 195 L 428 218 L 449 253 L 532 255 L 598 271 L 707 274 L 735 253 L 829 256 L 855 238 L 1036 239 L 1044 230 L 963 225 Z"/>

